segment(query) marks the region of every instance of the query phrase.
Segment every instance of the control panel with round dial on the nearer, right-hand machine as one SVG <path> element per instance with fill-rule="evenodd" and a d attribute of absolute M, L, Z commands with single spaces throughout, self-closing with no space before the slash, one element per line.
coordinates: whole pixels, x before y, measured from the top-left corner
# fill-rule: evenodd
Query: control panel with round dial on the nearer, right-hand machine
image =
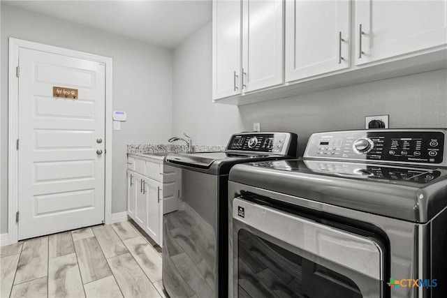
<path fill-rule="evenodd" d="M 444 129 L 314 133 L 304 157 L 446 165 L 446 133 Z"/>

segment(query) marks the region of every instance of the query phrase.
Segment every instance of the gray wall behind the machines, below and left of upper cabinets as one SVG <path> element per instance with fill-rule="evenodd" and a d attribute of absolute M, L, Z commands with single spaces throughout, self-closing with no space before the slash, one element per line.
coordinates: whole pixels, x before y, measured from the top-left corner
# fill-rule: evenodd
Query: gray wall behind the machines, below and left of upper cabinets
<path fill-rule="evenodd" d="M 173 129 L 180 133 L 184 128 L 203 144 L 226 144 L 228 134 L 251 131 L 254 122 L 261 122 L 261 131 L 298 133 L 300 155 L 312 133 L 365 128 L 367 115 L 389 114 L 391 128 L 447 127 L 446 69 L 243 105 L 237 110 L 212 104 L 211 49 L 208 24 L 174 52 Z"/>

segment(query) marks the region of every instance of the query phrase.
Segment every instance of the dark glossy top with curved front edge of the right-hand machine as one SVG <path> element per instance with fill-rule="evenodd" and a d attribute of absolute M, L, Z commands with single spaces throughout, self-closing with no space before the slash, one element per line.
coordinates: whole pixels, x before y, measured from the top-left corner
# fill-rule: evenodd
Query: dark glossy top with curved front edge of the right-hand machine
<path fill-rule="evenodd" d="M 235 165 L 230 181 L 424 223 L 447 207 L 447 170 L 326 160 Z"/>

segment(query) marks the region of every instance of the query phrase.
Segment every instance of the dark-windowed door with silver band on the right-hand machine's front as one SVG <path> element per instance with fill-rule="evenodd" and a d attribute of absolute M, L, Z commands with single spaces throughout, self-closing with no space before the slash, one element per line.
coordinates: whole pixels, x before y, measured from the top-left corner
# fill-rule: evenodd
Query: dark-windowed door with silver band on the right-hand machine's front
<path fill-rule="evenodd" d="M 232 225 L 233 297 L 384 297 L 379 241 L 240 198 Z"/>

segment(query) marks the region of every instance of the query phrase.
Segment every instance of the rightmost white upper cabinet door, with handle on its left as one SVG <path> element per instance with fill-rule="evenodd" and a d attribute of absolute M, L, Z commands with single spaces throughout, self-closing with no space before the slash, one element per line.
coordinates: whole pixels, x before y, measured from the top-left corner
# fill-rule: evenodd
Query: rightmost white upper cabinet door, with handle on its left
<path fill-rule="evenodd" d="M 446 25 L 445 0 L 358 0 L 356 65 L 445 45 Z"/>

